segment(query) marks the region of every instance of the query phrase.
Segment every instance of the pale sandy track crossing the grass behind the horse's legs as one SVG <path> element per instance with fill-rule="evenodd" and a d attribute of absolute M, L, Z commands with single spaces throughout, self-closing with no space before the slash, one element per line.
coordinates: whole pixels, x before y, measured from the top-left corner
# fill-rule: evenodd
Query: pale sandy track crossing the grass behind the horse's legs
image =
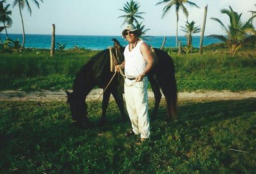
<path fill-rule="evenodd" d="M 71 91 L 70 91 L 71 92 Z M 102 89 L 93 89 L 86 97 L 87 101 L 97 100 L 102 94 Z M 148 98 L 154 98 L 152 91 L 148 91 Z M 230 92 L 230 91 L 195 91 L 195 92 L 179 92 L 179 100 L 232 100 L 256 98 L 255 91 Z M 113 99 L 113 96 L 111 96 Z M 162 96 L 162 99 L 164 97 Z M 0 101 L 66 101 L 65 91 L 1 91 Z M 99 101 L 102 100 L 102 96 Z"/>

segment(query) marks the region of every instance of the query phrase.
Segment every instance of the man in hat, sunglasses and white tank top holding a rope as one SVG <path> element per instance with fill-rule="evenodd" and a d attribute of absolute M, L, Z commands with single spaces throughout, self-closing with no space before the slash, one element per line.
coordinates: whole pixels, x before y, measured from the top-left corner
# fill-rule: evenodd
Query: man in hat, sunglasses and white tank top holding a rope
<path fill-rule="evenodd" d="M 125 103 L 132 124 L 128 134 L 140 134 L 141 141 L 145 141 L 150 137 L 147 73 L 154 64 L 153 55 L 147 43 L 139 38 L 141 30 L 134 25 L 127 25 L 122 35 L 129 45 L 124 50 L 124 62 L 115 66 L 115 71 L 125 68 Z"/>

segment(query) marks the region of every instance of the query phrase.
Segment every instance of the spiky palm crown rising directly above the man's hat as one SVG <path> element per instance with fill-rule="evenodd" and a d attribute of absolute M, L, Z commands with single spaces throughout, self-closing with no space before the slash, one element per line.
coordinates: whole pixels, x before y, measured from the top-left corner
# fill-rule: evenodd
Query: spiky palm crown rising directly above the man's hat
<path fill-rule="evenodd" d="M 140 15 L 145 14 L 145 12 L 138 12 L 140 8 L 139 4 L 140 3 L 131 0 L 130 3 L 126 2 L 126 4 L 124 4 L 123 9 L 119 9 L 121 11 L 124 11 L 125 13 L 125 15 L 118 17 L 118 18 L 124 18 L 124 22 L 122 25 L 124 25 L 125 23 L 133 24 L 134 21 L 136 22 L 136 24 L 139 24 L 137 18 L 144 19 Z"/>

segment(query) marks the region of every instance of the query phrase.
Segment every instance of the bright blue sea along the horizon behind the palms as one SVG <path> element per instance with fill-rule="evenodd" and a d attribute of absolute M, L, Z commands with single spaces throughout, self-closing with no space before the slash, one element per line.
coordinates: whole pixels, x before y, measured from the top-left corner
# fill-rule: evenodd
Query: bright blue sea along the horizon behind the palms
<path fill-rule="evenodd" d="M 19 40 L 22 43 L 22 34 L 8 34 L 12 40 Z M 5 34 L 0 34 L 1 40 L 6 39 Z M 127 45 L 127 41 L 122 36 L 76 36 L 76 35 L 56 35 L 55 42 L 61 45 L 66 44 L 66 48 L 73 48 L 74 45 L 80 48 L 88 48 L 92 50 L 104 50 L 113 45 L 112 38 L 120 41 L 121 45 Z M 164 36 L 150 36 L 147 43 L 153 47 L 160 48 Z M 186 38 L 179 36 L 182 45 L 186 45 Z M 220 40 L 214 38 L 204 37 L 204 46 L 211 45 L 212 43 L 219 43 Z M 199 47 L 200 36 L 193 36 L 193 47 Z M 26 34 L 25 47 L 30 48 L 51 48 L 51 35 L 50 34 Z M 166 36 L 166 43 L 164 47 L 175 47 L 175 36 Z"/>

